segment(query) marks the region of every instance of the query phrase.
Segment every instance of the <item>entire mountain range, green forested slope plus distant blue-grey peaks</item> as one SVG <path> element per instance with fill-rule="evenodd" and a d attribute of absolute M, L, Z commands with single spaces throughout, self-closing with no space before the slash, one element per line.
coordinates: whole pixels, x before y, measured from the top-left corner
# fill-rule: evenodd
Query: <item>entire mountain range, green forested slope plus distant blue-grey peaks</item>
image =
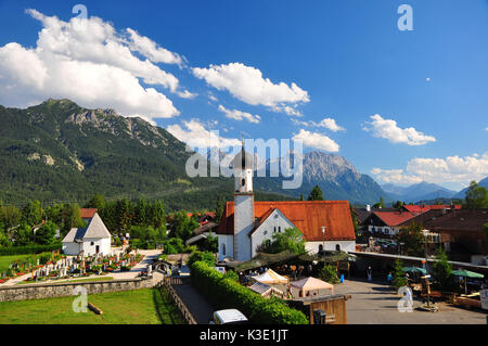
<path fill-rule="evenodd" d="M 0 106 L 0 121 L 3 203 L 22 205 L 36 198 L 84 204 L 99 192 L 107 198 L 160 198 L 168 209 L 202 209 L 233 195 L 233 178 L 190 178 L 185 163 L 193 152 L 142 118 L 48 100 L 25 110 Z M 278 163 L 293 161 L 294 155 L 298 154 Z M 382 189 L 339 155 L 313 151 L 297 158 L 303 159 L 303 184 L 290 190 L 282 188 L 283 175 L 270 177 L 274 162 L 260 159 L 267 176 L 255 178 L 256 200 L 307 198 L 316 184 L 325 200 L 352 204 L 373 204 L 381 197 L 393 202 L 399 192 L 390 185 Z M 454 193 L 426 183 L 401 193 L 425 197 L 438 191 Z"/>

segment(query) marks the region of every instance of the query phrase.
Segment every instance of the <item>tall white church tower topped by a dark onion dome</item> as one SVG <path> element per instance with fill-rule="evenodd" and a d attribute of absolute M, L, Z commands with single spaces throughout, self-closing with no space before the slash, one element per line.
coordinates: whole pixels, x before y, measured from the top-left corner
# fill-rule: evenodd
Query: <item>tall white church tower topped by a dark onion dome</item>
<path fill-rule="evenodd" d="M 253 174 L 254 157 L 244 150 L 233 159 L 234 169 L 234 259 L 251 259 L 251 238 L 254 227 Z"/>

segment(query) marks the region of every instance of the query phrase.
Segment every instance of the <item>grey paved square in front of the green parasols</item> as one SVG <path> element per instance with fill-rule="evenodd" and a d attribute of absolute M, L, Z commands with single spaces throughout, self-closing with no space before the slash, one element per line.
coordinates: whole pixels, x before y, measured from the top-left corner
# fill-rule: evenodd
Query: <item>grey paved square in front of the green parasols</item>
<path fill-rule="evenodd" d="M 440 303 L 438 312 L 413 310 L 399 312 L 400 299 L 387 285 L 375 282 L 346 280 L 334 285 L 334 293 L 350 294 L 346 302 L 347 324 L 486 324 L 486 313 L 470 311 Z M 413 297 L 413 308 L 422 302 Z"/>

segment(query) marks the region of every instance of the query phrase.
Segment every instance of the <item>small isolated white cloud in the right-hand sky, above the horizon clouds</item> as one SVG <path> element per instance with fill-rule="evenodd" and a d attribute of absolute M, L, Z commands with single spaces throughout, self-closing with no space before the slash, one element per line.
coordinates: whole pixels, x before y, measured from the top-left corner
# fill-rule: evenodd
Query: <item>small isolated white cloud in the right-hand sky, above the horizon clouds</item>
<path fill-rule="evenodd" d="M 380 114 L 370 116 L 372 121 L 363 127 L 365 131 L 372 131 L 374 137 L 385 138 L 391 143 L 406 143 L 408 145 L 423 145 L 428 142 L 435 142 L 432 136 L 419 132 L 413 127 L 400 128 L 397 121 L 384 119 Z"/>

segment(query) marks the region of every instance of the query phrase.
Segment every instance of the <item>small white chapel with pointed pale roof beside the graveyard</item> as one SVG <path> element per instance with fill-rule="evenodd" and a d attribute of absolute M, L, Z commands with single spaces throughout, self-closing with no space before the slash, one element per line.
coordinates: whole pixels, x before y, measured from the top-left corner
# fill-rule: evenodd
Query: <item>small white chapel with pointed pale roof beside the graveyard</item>
<path fill-rule="evenodd" d="M 112 235 L 98 213 L 85 228 L 73 228 L 63 239 L 63 253 L 72 256 L 92 256 L 111 253 Z"/>

